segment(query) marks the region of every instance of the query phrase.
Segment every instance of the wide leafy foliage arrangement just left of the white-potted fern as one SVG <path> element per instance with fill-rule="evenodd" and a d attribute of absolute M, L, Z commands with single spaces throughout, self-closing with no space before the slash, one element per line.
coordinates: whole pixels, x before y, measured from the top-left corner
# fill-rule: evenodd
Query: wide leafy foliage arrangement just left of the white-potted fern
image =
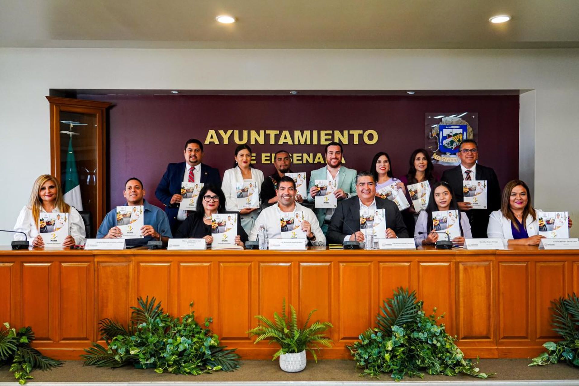
<path fill-rule="evenodd" d="M 193 303 L 189 304 L 192 307 Z M 138 307 L 131 307 L 130 325 L 102 319 L 101 336 L 108 348 L 98 343 L 81 355 L 85 365 L 120 367 L 154 367 L 157 373 L 193 374 L 216 370 L 233 371 L 239 368 L 239 355 L 219 345 L 219 337 L 195 321 L 195 313 L 174 318 L 163 313 L 155 297 L 149 302 L 138 298 Z M 211 318 L 205 319 L 208 327 Z"/>

